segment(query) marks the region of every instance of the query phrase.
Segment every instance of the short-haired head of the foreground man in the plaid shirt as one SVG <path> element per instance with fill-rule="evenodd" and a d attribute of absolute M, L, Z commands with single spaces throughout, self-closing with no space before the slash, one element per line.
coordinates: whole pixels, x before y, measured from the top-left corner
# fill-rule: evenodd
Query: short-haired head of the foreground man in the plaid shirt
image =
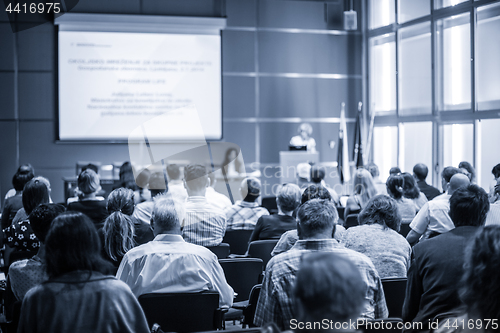
<path fill-rule="evenodd" d="M 325 232 L 332 235 L 339 214 L 331 201 L 312 199 L 299 207 L 297 217 L 300 234 L 308 238 Z"/>

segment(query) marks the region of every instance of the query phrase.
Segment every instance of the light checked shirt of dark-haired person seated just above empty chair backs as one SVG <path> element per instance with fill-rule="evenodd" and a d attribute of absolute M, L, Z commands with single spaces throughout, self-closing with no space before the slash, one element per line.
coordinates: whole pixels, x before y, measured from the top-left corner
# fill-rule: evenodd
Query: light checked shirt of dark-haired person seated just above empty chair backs
<path fill-rule="evenodd" d="M 259 203 L 237 201 L 231 207 L 224 209 L 227 218 L 227 230 L 253 230 L 257 220 L 269 212 Z"/>

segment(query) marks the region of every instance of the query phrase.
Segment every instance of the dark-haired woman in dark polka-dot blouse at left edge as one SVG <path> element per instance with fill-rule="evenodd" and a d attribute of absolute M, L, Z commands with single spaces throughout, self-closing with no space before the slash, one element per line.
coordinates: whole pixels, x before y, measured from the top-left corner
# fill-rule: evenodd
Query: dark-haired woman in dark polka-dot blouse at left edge
<path fill-rule="evenodd" d="M 15 251 L 38 251 L 40 242 L 31 228 L 28 215 L 38 205 L 50 203 L 50 182 L 37 176 L 23 190 L 23 208 L 19 209 L 10 227 L 3 230 L 5 245 Z"/>

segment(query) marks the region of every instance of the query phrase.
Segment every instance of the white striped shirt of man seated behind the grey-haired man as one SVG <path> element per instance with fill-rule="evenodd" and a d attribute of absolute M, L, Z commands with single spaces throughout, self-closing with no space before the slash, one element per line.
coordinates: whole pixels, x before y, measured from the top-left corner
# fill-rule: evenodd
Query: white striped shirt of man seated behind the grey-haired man
<path fill-rule="evenodd" d="M 188 197 L 182 220 L 182 236 L 188 243 L 217 246 L 226 233 L 226 215 L 205 197 Z"/>

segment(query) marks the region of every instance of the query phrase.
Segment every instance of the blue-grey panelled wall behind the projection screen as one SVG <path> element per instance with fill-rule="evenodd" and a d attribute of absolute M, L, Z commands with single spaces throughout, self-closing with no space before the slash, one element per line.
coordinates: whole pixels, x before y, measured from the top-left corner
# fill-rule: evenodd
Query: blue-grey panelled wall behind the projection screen
<path fill-rule="evenodd" d="M 298 124 L 307 118 L 322 161 L 335 161 L 340 103 L 348 117 L 362 99 L 362 36 L 342 30 L 347 1 L 80 0 L 72 12 L 227 17 L 223 44 L 223 136 L 257 169 L 277 167 Z M 360 25 L 360 1 L 355 1 Z M 24 24 L 19 21 L 17 24 Z M 57 31 L 47 23 L 12 33 L 0 13 L 0 194 L 20 163 L 51 180 L 63 200 L 62 177 L 77 161 L 128 159 L 125 144 L 56 143 Z M 352 119 L 350 119 L 352 121 Z M 348 130 L 353 133 L 353 124 Z M 350 135 L 352 136 L 352 134 Z M 351 145 L 352 147 L 352 145 Z M 248 166 L 250 168 L 250 166 Z M 269 184 L 279 181 L 274 176 Z"/>

